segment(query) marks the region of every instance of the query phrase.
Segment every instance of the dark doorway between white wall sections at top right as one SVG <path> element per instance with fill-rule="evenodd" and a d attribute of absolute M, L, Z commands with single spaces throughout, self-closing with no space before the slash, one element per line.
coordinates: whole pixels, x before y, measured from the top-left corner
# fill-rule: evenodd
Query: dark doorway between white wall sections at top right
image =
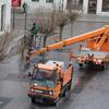
<path fill-rule="evenodd" d="M 97 0 L 88 0 L 88 13 L 96 14 L 97 10 Z"/>

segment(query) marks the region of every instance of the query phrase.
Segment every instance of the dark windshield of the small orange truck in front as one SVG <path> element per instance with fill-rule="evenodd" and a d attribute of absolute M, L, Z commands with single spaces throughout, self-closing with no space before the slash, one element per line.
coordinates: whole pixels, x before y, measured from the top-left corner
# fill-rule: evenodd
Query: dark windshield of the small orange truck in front
<path fill-rule="evenodd" d="M 43 70 L 35 68 L 32 80 L 46 82 L 48 87 L 52 87 L 56 84 L 57 74 L 55 70 Z"/>

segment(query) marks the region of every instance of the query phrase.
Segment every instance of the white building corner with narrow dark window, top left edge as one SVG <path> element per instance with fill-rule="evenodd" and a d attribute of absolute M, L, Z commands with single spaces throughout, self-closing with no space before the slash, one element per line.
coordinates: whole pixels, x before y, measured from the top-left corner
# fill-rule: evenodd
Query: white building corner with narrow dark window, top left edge
<path fill-rule="evenodd" d="M 0 34 L 11 27 L 11 0 L 0 0 Z"/>

